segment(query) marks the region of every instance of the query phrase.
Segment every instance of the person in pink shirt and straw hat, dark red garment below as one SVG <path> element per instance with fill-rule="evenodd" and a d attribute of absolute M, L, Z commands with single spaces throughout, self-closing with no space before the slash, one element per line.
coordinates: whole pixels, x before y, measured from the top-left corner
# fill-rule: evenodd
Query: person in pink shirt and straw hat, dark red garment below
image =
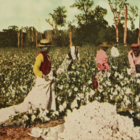
<path fill-rule="evenodd" d="M 95 76 L 94 76 L 94 89 L 98 88 L 98 82 L 97 82 L 97 78 L 96 75 L 98 73 L 99 70 L 101 71 L 105 71 L 105 70 L 110 70 L 110 66 L 108 64 L 108 57 L 106 54 L 107 49 L 110 47 L 109 45 L 107 45 L 106 42 L 103 42 L 103 44 L 100 45 L 101 49 L 97 52 L 95 61 L 97 63 L 97 69 L 95 72 Z"/>

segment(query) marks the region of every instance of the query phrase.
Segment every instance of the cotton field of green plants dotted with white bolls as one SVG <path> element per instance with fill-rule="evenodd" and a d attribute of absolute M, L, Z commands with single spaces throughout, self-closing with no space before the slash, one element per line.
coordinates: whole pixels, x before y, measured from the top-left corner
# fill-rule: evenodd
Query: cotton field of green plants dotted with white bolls
<path fill-rule="evenodd" d="M 138 78 L 131 77 L 126 48 L 119 49 L 120 57 L 116 59 L 111 57 L 110 50 L 107 51 L 111 71 L 98 73 L 98 92 L 93 90 L 95 56 L 98 48 L 81 47 L 80 62 L 71 64 L 67 71 L 56 77 L 57 111 L 49 112 L 41 108 L 38 110 L 29 108 L 25 114 L 17 113 L 16 116 L 12 116 L 11 121 L 23 119 L 25 124 L 27 122 L 30 124 L 46 122 L 61 118 L 67 115 L 67 110 L 73 111 L 95 100 L 116 105 L 117 112 L 129 111 L 135 118 L 140 119 L 140 81 Z M 54 73 L 63 62 L 68 50 L 66 47 L 54 47 L 50 51 Z M 22 102 L 27 96 L 34 85 L 33 66 L 38 52 L 39 50 L 35 49 L 1 51 L 0 104 L 15 105 Z"/>

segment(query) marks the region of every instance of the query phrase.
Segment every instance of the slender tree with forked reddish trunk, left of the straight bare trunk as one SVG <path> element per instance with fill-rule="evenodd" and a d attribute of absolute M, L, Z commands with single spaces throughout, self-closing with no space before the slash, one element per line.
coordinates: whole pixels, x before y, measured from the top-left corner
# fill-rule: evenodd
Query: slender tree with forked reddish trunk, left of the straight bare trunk
<path fill-rule="evenodd" d="M 119 42 L 119 29 L 118 29 L 118 23 L 120 19 L 120 14 L 124 8 L 124 1 L 122 0 L 108 0 L 111 11 L 114 15 L 114 24 L 116 27 L 116 42 Z"/>

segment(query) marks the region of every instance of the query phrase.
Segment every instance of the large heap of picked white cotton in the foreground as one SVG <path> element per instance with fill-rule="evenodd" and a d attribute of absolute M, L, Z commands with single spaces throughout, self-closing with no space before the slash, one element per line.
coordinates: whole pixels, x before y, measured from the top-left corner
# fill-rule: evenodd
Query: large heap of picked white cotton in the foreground
<path fill-rule="evenodd" d="M 140 127 L 134 128 L 133 120 L 118 115 L 109 103 L 94 101 L 68 112 L 64 126 L 59 140 L 140 139 Z"/>

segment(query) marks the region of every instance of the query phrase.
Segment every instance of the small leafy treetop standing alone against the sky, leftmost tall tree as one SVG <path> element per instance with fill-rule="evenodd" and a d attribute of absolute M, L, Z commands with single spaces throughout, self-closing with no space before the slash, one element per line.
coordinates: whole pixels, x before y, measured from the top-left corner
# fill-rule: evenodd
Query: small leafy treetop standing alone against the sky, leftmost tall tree
<path fill-rule="evenodd" d="M 51 19 L 46 19 L 46 22 L 52 26 L 54 33 L 57 34 L 58 26 L 63 27 L 66 24 L 67 11 L 64 6 L 59 6 L 53 11 L 53 13 L 49 13 Z"/>

